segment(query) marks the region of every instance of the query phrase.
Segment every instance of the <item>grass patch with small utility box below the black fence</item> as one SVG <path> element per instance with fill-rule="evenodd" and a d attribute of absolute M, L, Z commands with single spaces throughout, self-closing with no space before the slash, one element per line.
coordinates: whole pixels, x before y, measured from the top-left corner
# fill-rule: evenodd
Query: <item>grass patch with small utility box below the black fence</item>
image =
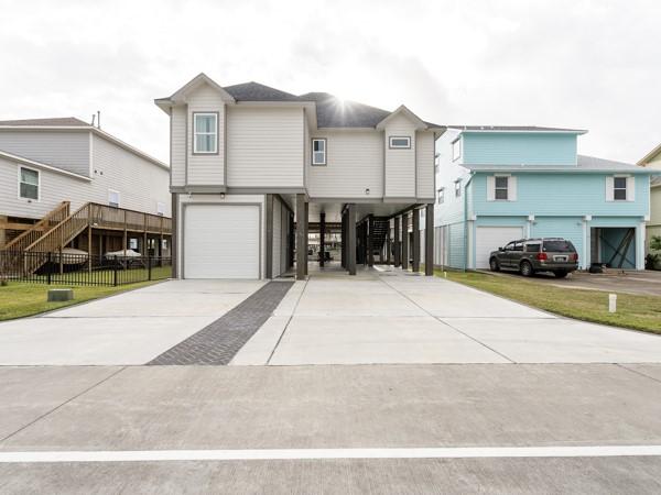
<path fill-rule="evenodd" d="M 30 284 L 24 282 L 10 282 L 9 285 L 0 286 L 0 321 L 23 318 L 37 315 L 52 309 L 71 306 L 99 297 L 111 296 L 123 293 L 155 282 L 141 282 L 138 284 L 111 286 L 80 286 L 80 285 L 46 285 Z M 74 289 L 74 300 L 65 302 L 46 302 L 46 293 L 50 288 Z"/>

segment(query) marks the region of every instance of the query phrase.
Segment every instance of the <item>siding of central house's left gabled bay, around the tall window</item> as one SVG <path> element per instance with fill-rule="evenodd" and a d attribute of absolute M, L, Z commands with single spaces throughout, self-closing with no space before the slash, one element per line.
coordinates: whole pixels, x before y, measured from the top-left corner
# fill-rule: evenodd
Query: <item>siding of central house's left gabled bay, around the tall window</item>
<path fill-rule="evenodd" d="M 215 153 L 196 154 L 193 146 L 196 113 L 217 112 L 217 148 Z M 192 186 L 225 185 L 225 102 L 218 91 L 204 85 L 188 97 L 187 184 Z"/>

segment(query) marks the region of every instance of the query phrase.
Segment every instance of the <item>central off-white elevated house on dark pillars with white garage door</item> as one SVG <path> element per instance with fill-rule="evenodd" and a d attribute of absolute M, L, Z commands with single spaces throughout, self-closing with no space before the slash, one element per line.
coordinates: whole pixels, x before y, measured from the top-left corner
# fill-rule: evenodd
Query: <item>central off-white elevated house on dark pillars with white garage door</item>
<path fill-rule="evenodd" d="M 403 106 L 386 111 L 257 82 L 223 87 L 204 74 L 155 103 L 171 122 L 178 277 L 272 278 L 295 257 L 302 278 L 307 234 L 321 233 L 324 264 L 328 229 L 342 233 L 340 264 L 355 274 L 383 253 L 392 219 L 398 232 L 416 209 L 433 221 L 434 143 L 444 128 Z M 414 264 L 415 239 L 402 246 Z"/>

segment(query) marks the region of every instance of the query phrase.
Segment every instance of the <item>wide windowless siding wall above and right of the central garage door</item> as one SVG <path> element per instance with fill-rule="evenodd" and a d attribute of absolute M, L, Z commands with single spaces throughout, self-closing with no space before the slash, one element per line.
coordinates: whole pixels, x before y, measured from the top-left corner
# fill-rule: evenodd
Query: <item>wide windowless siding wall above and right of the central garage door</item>
<path fill-rule="evenodd" d="M 237 106 L 227 119 L 228 187 L 303 187 L 301 108 Z"/>

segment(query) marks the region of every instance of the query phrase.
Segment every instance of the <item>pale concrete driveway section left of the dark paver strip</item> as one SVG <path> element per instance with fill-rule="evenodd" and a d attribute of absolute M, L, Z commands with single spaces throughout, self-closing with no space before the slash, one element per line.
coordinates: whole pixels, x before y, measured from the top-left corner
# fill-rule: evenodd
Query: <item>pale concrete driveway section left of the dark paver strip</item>
<path fill-rule="evenodd" d="M 217 320 L 263 282 L 171 280 L 0 323 L 0 365 L 144 364 Z"/>

